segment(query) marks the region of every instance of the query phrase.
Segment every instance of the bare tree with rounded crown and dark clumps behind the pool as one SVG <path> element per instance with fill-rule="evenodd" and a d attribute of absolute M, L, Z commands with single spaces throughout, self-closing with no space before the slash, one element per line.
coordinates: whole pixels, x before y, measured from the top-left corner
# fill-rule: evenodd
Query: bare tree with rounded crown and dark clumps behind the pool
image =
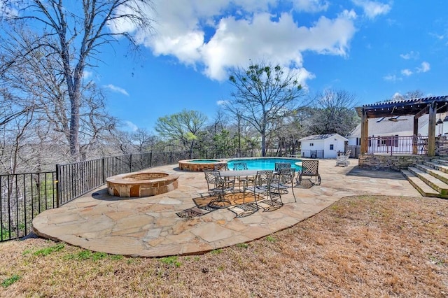
<path fill-rule="evenodd" d="M 265 156 L 267 137 L 281 129 L 281 118 L 294 113 L 304 94 L 297 75 L 262 62 L 250 64 L 248 69 L 233 69 L 229 80 L 235 91 L 225 108 L 260 133 L 261 153 Z"/>

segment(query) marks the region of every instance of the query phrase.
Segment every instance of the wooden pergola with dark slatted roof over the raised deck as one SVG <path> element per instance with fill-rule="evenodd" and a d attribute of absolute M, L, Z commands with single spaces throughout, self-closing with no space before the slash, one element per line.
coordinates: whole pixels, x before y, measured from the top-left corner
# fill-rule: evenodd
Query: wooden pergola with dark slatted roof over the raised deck
<path fill-rule="evenodd" d="M 367 136 L 369 135 L 368 120 L 370 118 L 396 118 L 397 116 L 414 115 L 414 135 L 419 133 L 419 118 L 429 114 L 428 123 L 428 156 L 435 155 L 435 124 L 437 113 L 448 111 L 448 95 L 441 97 L 421 97 L 398 101 L 384 101 L 367 104 L 355 108 L 361 118 L 361 148 L 360 153 L 367 152 Z"/>

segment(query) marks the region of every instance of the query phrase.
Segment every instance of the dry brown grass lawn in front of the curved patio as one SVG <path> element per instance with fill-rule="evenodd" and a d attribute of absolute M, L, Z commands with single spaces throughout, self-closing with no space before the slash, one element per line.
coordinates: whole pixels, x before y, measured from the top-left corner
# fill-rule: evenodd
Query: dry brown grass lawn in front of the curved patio
<path fill-rule="evenodd" d="M 0 243 L 0 282 L 20 279 L 0 286 L 0 296 L 448 297 L 447 218 L 448 200 L 362 196 L 197 256 L 116 257 L 8 241 Z"/>

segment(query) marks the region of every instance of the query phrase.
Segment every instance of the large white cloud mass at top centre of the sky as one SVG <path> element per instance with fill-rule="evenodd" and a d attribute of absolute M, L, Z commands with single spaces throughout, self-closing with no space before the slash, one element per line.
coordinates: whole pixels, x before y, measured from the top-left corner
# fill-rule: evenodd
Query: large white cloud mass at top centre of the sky
<path fill-rule="evenodd" d="M 290 0 L 293 11 L 283 13 L 279 13 L 278 0 L 153 3 L 148 13 L 155 19 L 156 34 L 137 32 L 139 41 L 154 55 L 172 55 L 214 80 L 225 80 L 228 69 L 245 66 L 252 59 L 293 65 L 306 85 L 305 80 L 313 76 L 303 67 L 302 52 L 346 57 L 356 32 L 353 10 L 342 10 L 332 18 L 318 17 L 311 25 L 295 19 L 294 11 L 326 10 L 327 0 Z M 128 24 L 115 26 L 117 31 L 135 31 Z"/>

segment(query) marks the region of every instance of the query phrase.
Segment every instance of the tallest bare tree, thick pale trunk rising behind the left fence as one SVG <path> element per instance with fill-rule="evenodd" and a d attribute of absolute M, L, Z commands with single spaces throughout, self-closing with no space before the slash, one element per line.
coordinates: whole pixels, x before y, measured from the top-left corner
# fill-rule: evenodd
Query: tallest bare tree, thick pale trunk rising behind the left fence
<path fill-rule="evenodd" d="M 139 29 L 151 29 L 153 20 L 146 13 L 151 8 L 151 0 L 83 0 L 68 3 L 63 0 L 0 1 L 3 8 L 18 11 L 17 14 L 8 15 L 9 20 L 15 24 L 30 24 L 38 30 L 31 43 L 15 43 L 20 50 L 19 57 L 45 52 L 45 58 L 57 62 L 54 71 L 61 76 L 59 83 L 64 85 L 64 92 L 69 97 L 70 153 L 74 160 L 79 160 L 85 67 L 96 66 L 102 45 L 117 41 L 118 36 L 134 43 L 132 35 L 109 26 L 124 22 Z M 20 41 L 20 36 L 15 40 Z M 13 66 L 16 61 L 11 59 L 3 67 Z M 44 83 L 51 88 L 54 82 Z"/>

